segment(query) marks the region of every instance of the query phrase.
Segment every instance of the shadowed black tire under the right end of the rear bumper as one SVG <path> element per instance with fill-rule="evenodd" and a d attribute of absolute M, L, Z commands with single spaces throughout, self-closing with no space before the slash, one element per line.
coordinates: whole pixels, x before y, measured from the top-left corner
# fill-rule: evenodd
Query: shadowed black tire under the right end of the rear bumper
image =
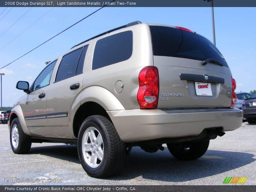
<path fill-rule="evenodd" d="M 195 160 L 203 156 L 209 146 L 209 140 L 188 143 L 168 143 L 167 147 L 170 153 L 179 160 Z"/>

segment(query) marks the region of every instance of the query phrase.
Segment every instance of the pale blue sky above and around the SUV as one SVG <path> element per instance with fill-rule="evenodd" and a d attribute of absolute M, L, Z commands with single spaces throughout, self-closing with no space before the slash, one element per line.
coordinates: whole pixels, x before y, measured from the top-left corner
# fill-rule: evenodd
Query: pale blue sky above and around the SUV
<path fill-rule="evenodd" d="M 4 9 L 5 7 L 0 7 L 0 13 Z M 0 16 L 0 68 L 94 12 L 98 7 L 14 7 L 2 19 L 10 9 L 8 7 Z M 25 12 L 27 13 L 4 33 Z M 2 77 L 2 106 L 13 106 L 25 94 L 16 89 L 18 81 L 33 83 L 46 66 L 46 61 L 53 60 L 73 45 L 92 36 L 139 20 L 143 23 L 185 27 L 213 41 L 211 14 L 210 7 L 105 7 L 11 65 L 0 69 L 0 73 L 5 73 Z M 41 19 L 38 20 L 39 18 Z M 250 92 L 256 89 L 256 8 L 215 7 L 214 18 L 216 46 L 227 60 L 236 79 L 236 91 Z M 38 21 L 28 28 L 36 20 Z M 28 29 L 24 31 L 26 28 Z M 18 36 L 22 31 L 24 32 Z M 9 43 L 16 36 L 18 37 Z M 6 45 L 7 43 L 9 44 Z"/>

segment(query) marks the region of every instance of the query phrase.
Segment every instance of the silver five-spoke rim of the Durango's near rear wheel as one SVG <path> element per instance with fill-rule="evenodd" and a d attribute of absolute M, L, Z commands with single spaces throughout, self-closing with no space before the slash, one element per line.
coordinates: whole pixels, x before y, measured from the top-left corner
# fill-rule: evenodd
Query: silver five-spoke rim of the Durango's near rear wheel
<path fill-rule="evenodd" d="M 83 158 L 92 168 L 100 166 L 104 156 L 103 140 L 95 127 L 86 129 L 82 139 Z"/>

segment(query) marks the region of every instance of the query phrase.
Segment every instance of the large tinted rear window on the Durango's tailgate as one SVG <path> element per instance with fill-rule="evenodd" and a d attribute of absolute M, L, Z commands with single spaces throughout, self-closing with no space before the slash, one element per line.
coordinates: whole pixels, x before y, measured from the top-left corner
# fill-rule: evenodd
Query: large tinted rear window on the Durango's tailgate
<path fill-rule="evenodd" d="M 211 58 L 228 67 L 220 51 L 203 36 L 172 27 L 149 26 L 149 28 L 153 53 L 156 56 L 202 61 Z"/>

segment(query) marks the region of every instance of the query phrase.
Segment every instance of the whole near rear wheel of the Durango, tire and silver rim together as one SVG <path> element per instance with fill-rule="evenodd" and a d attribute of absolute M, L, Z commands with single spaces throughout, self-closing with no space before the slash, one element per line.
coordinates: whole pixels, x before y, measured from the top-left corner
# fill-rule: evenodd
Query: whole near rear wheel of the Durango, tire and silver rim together
<path fill-rule="evenodd" d="M 114 125 L 104 116 L 87 117 L 78 133 L 80 162 L 91 177 L 105 178 L 122 167 L 126 148 Z"/>

